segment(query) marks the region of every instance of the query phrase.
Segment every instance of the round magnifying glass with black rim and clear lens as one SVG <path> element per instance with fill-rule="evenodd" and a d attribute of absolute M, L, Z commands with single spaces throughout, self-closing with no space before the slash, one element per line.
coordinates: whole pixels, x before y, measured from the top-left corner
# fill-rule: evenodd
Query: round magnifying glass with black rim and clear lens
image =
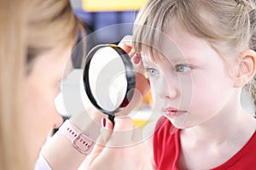
<path fill-rule="evenodd" d="M 114 44 L 100 44 L 86 56 L 84 89 L 99 111 L 113 122 L 115 114 L 131 101 L 135 70 L 128 54 Z"/>

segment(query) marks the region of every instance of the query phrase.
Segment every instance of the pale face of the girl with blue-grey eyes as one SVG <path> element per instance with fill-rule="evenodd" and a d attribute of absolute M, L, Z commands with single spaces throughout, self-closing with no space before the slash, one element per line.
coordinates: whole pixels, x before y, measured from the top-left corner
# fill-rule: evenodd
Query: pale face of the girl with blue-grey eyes
<path fill-rule="evenodd" d="M 229 68 L 202 39 L 175 29 L 167 32 L 163 54 L 153 61 L 143 55 L 155 106 L 175 127 L 186 128 L 209 121 L 232 105 L 234 89 Z M 178 50 L 179 48 L 179 50 Z M 232 98 L 233 96 L 233 98 Z"/>

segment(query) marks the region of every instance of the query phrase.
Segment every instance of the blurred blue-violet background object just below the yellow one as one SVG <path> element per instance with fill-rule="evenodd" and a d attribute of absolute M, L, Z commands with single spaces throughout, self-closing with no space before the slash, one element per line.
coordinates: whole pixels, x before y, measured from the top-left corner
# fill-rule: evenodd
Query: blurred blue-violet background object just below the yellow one
<path fill-rule="evenodd" d="M 75 9 L 74 14 L 84 22 L 87 34 L 86 51 L 89 52 L 97 44 L 117 44 L 122 37 L 131 35 L 132 23 L 136 19 L 137 11 L 89 13 L 82 9 Z M 80 68 L 82 64 L 81 50 L 74 52 L 72 59 L 74 68 Z"/>

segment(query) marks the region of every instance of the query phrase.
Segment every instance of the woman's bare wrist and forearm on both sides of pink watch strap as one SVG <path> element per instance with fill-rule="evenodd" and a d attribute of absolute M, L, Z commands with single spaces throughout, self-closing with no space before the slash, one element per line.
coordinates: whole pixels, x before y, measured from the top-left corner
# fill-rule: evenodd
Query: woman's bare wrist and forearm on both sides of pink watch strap
<path fill-rule="evenodd" d="M 96 140 L 101 135 L 101 119 L 103 117 L 107 116 L 90 107 L 87 108 L 87 111 L 72 116 L 69 121 L 84 133 L 89 134 L 90 139 Z M 51 169 L 61 170 L 78 169 L 86 157 L 74 148 L 72 142 L 60 131 L 57 131 L 44 144 L 41 154 Z"/>

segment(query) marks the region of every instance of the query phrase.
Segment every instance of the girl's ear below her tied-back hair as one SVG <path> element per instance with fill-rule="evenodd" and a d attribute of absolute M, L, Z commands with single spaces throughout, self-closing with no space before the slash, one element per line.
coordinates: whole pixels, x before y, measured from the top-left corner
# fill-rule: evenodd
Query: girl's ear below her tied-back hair
<path fill-rule="evenodd" d="M 238 71 L 234 83 L 235 88 L 242 88 L 253 79 L 256 72 L 256 53 L 247 49 L 239 55 Z"/>

